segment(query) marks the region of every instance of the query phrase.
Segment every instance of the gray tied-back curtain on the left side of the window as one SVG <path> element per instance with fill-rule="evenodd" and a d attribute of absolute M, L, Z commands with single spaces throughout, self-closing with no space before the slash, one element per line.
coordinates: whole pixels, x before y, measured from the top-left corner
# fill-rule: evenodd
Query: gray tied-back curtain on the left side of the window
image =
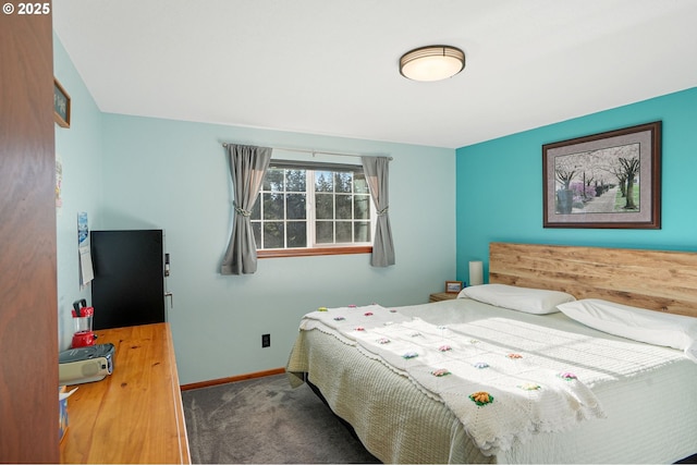
<path fill-rule="evenodd" d="M 271 161 L 271 148 L 229 144 L 227 150 L 235 210 L 220 273 L 250 274 L 257 270 L 257 245 L 249 217 Z"/>

